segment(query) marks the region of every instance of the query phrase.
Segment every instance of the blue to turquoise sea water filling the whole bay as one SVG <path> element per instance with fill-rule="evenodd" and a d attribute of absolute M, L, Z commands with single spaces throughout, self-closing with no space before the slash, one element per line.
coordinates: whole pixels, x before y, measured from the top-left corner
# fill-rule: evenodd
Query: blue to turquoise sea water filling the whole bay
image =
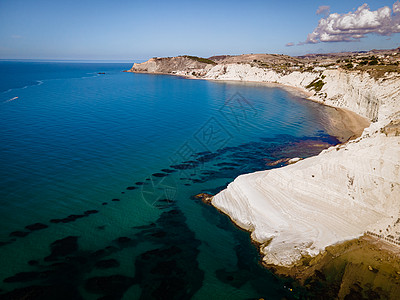
<path fill-rule="evenodd" d="M 0 298 L 304 296 L 193 196 L 337 143 L 329 108 L 129 67 L 0 62 Z"/>

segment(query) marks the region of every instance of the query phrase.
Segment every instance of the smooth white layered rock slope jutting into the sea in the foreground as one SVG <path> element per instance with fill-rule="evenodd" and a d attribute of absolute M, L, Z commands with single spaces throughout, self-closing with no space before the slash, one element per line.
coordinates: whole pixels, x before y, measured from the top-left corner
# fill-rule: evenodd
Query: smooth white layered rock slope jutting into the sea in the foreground
<path fill-rule="evenodd" d="M 399 218 L 400 137 L 384 133 L 294 165 L 239 176 L 212 204 L 260 243 L 266 264 L 291 266 Z"/>

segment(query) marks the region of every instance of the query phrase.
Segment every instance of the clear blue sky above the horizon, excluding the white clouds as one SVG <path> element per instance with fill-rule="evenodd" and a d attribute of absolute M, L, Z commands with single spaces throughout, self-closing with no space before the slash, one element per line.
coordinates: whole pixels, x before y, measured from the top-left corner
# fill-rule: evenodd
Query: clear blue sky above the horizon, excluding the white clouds
<path fill-rule="evenodd" d="M 395 0 L 0 0 L 0 58 L 140 60 L 399 47 L 400 33 L 298 45 L 324 17 L 318 7 L 344 14 L 364 3 L 375 11 Z"/>

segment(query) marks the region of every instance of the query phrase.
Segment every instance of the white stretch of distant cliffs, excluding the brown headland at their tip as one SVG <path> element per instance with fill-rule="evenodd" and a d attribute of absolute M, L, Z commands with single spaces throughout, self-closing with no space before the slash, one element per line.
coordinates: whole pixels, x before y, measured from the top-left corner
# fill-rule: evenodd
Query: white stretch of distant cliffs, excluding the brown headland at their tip
<path fill-rule="evenodd" d="M 400 75 L 380 79 L 366 72 L 325 70 L 321 72 L 276 71 L 249 64 L 217 65 L 204 76 L 206 79 L 256 81 L 284 84 L 312 92 L 310 99 L 326 105 L 346 108 L 371 121 L 383 120 L 398 109 Z M 384 99 L 384 100 L 382 100 Z"/>

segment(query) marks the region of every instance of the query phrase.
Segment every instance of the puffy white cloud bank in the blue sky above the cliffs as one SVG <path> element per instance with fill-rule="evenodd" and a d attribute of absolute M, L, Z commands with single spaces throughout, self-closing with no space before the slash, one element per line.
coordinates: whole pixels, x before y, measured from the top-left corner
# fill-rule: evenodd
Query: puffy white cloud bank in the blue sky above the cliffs
<path fill-rule="evenodd" d="M 318 13 L 326 13 L 327 6 L 320 6 Z M 351 42 L 358 41 L 367 34 L 375 33 L 390 36 L 400 32 L 400 1 L 371 11 L 368 4 L 363 4 L 355 11 L 347 14 L 329 14 L 318 22 L 318 26 L 310 33 L 304 44 L 320 42 Z"/>

